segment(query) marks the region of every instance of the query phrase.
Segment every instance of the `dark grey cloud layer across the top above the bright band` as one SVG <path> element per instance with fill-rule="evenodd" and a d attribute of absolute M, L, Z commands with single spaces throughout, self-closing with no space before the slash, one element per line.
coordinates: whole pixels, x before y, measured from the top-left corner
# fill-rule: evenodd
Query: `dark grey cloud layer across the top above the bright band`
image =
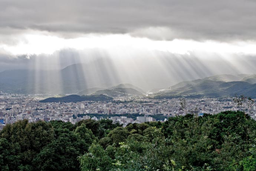
<path fill-rule="evenodd" d="M 255 40 L 253 0 L 1 0 L 1 30 L 129 33 L 152 39 Z"/>

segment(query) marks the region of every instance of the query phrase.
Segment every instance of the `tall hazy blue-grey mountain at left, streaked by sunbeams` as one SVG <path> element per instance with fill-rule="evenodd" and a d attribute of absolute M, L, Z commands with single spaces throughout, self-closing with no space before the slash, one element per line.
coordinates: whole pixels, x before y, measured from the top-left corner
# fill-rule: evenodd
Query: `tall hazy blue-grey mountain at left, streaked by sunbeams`
<path fill-rule="evenodd" d="M 23 94 L 93 94 L 98 90 L 134 88 L 121 84 L 120 76 L 108 60 L 73 64 L 61 70 L 6 70 L 0 72 L 0 91 Z M 125 78 L 125 76 L 123 76 Z M 118 86 L 115 86 L 118 85 Z M 108 88 L 110 87 L 110 88 Z"/>

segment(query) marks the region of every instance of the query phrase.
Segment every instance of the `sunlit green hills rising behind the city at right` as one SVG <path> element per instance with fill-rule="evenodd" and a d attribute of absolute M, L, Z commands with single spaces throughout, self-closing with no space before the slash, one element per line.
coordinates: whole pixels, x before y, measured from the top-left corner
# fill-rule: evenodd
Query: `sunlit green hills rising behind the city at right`
<path fill-rule="evenodd" d="M 254 82 L 253 78 L 254 76 L 252 75 L 246 75 L 246 77 L 242 78 L 242 76 L 225 74 L 192 81 L 183 81 L 172 86 L 170 91 L 154 94 L 154 97 L 234 97 L 237 94 L 256 98 L 256 79 Z M 250 79 L 251 83 L 246 81 L 232 81 L 247 79 Z"/>

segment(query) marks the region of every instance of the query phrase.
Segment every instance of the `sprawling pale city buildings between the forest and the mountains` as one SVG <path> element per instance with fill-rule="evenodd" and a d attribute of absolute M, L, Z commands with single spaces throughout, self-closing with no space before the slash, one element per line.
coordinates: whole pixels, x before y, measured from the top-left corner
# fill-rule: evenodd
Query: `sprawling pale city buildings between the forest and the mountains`
<path fill-rule="evenodd" d="M 42 95 L 41 95 L 42 96 Z M 256 118 L 256 105 L 247 102 L 239 106 L 233 98 L 173 98 L 156 100 L 144 96 L 115 97 L 113 101 L 82 101 L 77 103 L 41 103 L 40 95 L 1 93 L 0 128 L 27 119 L 29 122 L 60 120 L 75 124 L 81 120 L 109 119 L 124 127 L 130 123 L 148 121 L 164 122 L 169 117 L 185 114 L 203 116 L 222 111 L 243 110 L 253 119 Z M 181 105 L 181 103 L 185 105 Z M 95 115 L 93 115 L 95 114 Z M 98 114 L 101 114 L 98 116 Z M 115 114 L 115 116 L 112 116 Z M 124 114 L 138 114 L 136 119 Z M 91 115 L 91 117 L 89 116 Z M 161 119 L 156 120 L 155 115 Z M 159 118 L 159 117 L 158 117 Z"/>

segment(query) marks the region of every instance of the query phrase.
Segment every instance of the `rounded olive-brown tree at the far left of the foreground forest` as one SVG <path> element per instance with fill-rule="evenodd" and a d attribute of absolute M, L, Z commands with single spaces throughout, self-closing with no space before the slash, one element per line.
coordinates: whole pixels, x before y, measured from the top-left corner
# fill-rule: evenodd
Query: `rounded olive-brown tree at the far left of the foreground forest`
<path fill-rule="evenodd" d="M 36 155 L 54 138 L 50 123 L 28 120 L 6 125 L 1 131 L 1 138 L 8 142 L 9 154 L 4 153 L 3 165 L 10 170 L 33 170 L 32 161 Z"/>

